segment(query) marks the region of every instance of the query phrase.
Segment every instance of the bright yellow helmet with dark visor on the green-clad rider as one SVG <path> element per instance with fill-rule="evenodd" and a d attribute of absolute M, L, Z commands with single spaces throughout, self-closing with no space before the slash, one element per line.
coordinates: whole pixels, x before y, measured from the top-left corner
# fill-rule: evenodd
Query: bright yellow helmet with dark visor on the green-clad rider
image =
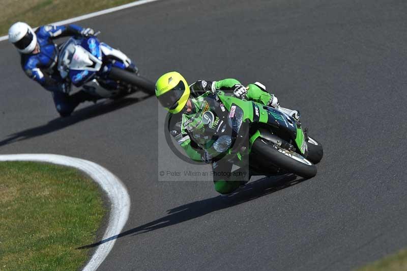
<path fill-rule="evenodd" d="M 176 71 L 167 72 L 157 79 L 156 96 L 169 113 L 179 113 L 187 103 L 189 94 L 187 81 Z"/>

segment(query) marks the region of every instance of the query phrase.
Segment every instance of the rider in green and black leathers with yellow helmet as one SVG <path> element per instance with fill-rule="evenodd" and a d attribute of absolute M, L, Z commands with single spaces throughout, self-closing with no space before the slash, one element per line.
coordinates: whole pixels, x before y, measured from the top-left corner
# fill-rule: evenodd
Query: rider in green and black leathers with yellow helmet
<path fill-rule="evenodd" d="M 155 93 L 162 106 L 169 112 L 169 133 L 185 150 L 187 155 L 195 161 L 205 161 L 212 164 L 215 189 L 220 194 L 234 192 L 245 184 L 249 174 L 230 174 L 232 162 L 212 159 L 211 153 L 205 149 L 205 136 L 202 130 L 210 129 L 207 121 L 203 120 L 204 113 L 210 111 L 207 97 L 216 95 L 218 90 L 232 93 L 235 97 L 252 100 L 279 109 L 278 99 L 266 91 L 266 87 L 258 82 L 244 87 L 236 79 L 218 81 L 198 80 L 188 86 L 185 78 L 178 72 L 168 72 L 158 78 Z M 286 112 L 298 119 L 297 111 Z M 211 124 L 210 124 L 211 125 Z M 242 170 L 242 169 L 241 169 Z M 229 174 L 227 174 L 229 173 Z M 245 176 L 246 179 L 236 178 Z"/>

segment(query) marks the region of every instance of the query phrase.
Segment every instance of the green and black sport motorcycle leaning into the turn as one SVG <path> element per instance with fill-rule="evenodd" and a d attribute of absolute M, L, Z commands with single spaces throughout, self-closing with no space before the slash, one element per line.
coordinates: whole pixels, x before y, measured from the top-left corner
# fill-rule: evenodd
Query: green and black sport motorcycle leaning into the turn
<path fill-rule="evenodd" d="M 223 91 L 206 100 L 209 106 L 196 127 L 199 130 L 202 125 L 203 133 L 194 131 L 193 140 L 208 150 L 214 161 L 227 159 L 249 169 L 251 175 L 315 176 L 314 164 L 322 159 L 323 147 L 283 108 L 275 110 Z"/>

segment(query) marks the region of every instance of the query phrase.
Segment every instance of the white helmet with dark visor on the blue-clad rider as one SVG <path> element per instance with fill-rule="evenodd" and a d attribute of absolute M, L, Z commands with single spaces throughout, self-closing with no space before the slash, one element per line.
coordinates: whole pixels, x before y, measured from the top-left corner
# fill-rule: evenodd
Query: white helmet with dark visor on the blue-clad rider
<path fill-rule="evenodd" d="M 31 53 L 37 46 L 37 36 L 30 25 L 16 22 L 9 29 L 9 40 L 22 53 Z"/>

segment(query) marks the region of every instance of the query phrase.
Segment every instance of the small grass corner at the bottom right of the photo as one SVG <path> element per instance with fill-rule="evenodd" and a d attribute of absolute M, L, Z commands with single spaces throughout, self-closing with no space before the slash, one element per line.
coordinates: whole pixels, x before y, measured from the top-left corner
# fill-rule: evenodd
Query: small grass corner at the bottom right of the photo
<path fill-rule="evenodd" d="M 379 261 L 357 269 L 357 271 L 406 271 L 407 250 L 401 250 L 396 254 L 387 256 Z"/>

